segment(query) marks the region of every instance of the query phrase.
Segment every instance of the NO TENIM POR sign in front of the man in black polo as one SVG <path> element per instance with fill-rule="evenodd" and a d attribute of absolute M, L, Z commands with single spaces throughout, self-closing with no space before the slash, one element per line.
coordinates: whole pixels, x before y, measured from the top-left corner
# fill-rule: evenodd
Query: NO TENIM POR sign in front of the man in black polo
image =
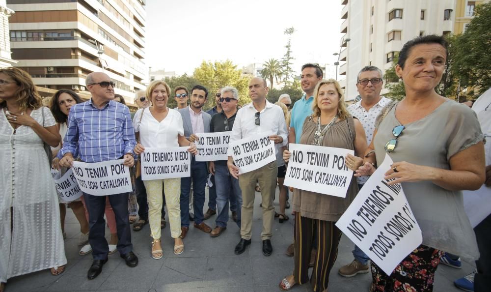
<path fill-rule="evenodd" d="M 227 160 L 228 142 L 230 132 L 197 133 L 195 141 L 198 154 L 196 161 Z"/>

